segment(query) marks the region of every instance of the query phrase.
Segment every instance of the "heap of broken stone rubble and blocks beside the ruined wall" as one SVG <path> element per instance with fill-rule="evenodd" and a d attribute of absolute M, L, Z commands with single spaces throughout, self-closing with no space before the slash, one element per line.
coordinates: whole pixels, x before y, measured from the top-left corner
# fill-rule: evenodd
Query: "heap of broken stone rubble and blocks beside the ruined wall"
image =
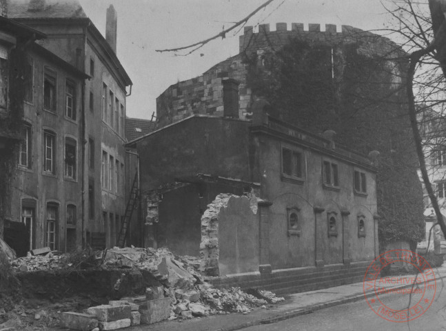
<path fill-rule="evenodd" d="M 29 255 L 28 257 L 16 259 L 11 264 L 18 272 L 74 268 L 74 265 L 66 263 L 69 260 L 66 254 L 57 256 L 47 253 L 45 255 Z M 138 320 L 134 316 L 137 315 L 136 311 L 141 314 L 141 321 L 145 321 L 143 323 L 154 320 L 158 321 L 158 319 L 144 317 L 147 315 L 145 310 L 148 310 L 148 305 L 152 304 L 154 307 L 159 306 L 159 304 L 150 303 L 150 301 L 156 303 L 159 300 L 163 302 L 167 300 L 169 303 L 167 315 L 163 311 L 158 316 L 162 316 L 163 319 L 181 320 L 191 319 L 192 317 L 205 317 L 212 314 L 230 314 L 232 312 L 248 314 L 252 308 L 266 308 L 270 303 L 274 304 L 284 300 L 268 291 L 248 290 L 244 292 L 240 288 L 214 288 L 212 284 L 207 282 L 209 279 L 202 274 L 203 263 L 201 259 L 188 256 L 177 257 L 165 248 L 115 247 L 102 252 L 96 252 L 94 259 L 97 261 L 97 268 L 137 268 L 140 270 L 148 270 L 163 285 L 161 288 L 147 288 L 145 297 L 121 299 L 121 301 L 125 301 L 121 302 L 121 305 L 132 305 L 131 313 L 126 312 L 129 316 L 125 318 L 125 322 L 112 321 L 115 324 L 121 323 L 120 325 L 127 325 L 130 323 L 130 325 L 134 325 Z M 113 306 L 116 303 L 110 301 L 110 305 Z M 116 308 L 110 307 L 103 309 L 110 311 L 116 310 Z M 120 309 L 128 310 L 128 308 Z M 91 316 L 73 317 L 77 314 L 74 312 L 63 314 L 66 315 L 65 319 L 70 320 L 70 322 L 66 323 L 74 323 L 71 319 L 74 319 L 78 323 L 79 319 L 84 318 L 84 322 L 88 324 L 92 319 Z M 95 316 L 92 314 L 92 310 L 88 314 Z M 127 319 L 130 319 L 130 321 L 127 321 Z M 66 325 L 63 319 L 61 321 L 63 325 Z M 92 324 L 88 325 L 102 322 L 108 321 L 94 320 Z"/>

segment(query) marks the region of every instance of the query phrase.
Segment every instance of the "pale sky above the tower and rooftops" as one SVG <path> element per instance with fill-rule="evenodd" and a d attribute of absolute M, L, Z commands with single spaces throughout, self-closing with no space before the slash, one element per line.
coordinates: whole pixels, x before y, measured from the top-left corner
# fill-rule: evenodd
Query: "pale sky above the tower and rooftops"
<path fill-rule="evenodd" d="M 127 98 L 129 117 L 150 119 L 156 97 L 168 86 L 199 76 L 239 52 L 239 35 L 212 41 L 186 57 L 156 49 L 185 46 L 219 33 L 266 0 L 80 0 L 85 13 L 105 35 L 105 12 L 118 12 L 117 55 L 133 81 Z M 363 30 L 388 26 L 380 0 L 275 0 L 248 25 L 286 22 L 345 24 Z M 392 0 L 383 0 L 389 4 Z M 273 28 L 274 27 L 274 28 Z M 203 54 L 201 56 L 200 54 Z"/>

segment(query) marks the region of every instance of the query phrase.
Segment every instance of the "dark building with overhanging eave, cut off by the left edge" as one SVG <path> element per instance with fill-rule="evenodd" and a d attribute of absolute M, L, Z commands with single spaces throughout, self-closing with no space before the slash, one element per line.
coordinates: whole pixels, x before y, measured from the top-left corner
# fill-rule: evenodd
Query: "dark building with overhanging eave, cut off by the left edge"
<path fill-rule="evenodd" d="M 6 18 L 6 1 L 0 1 L 0 237 L 11 219 L 13 177 L 21 141 L 23 99 L 28 79 L 28 46 L 45 34 Z"/>

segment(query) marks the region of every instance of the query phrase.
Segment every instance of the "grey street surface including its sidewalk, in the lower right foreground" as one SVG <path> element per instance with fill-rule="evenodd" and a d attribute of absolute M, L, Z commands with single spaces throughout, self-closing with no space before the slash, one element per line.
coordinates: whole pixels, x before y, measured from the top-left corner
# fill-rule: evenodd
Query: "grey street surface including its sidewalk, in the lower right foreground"
<path fill-rule="evenodd" d="M 416 325 L 415 328 L 409 330 L 442 330 L 436 328 L 438 325 L 446 326 L 446 317 L 440 312 L 445 311 L 446 306 L 446 267 L 434 269 L 436 276 L 436 292 L 431 307 L 418 319 L 409 322 L 409 325 Z M 412 275 L 405 274 L 401 277 L 385 277 L 380 282 L 381 287 L 387 289 L 403 289 L 411 288 L 412 284 L 405 283 L 405 279 L 409 279 Z M 445 283 L 443 283 L 443 279 Z M 374 289 L 369 289 L 366 294 L 372 294 Z M 394 309 L 403 309 L 407 305 L 407 294 L 398 295 L 396 293 L 380 295 L 383 303 L 389 303 Z M 414 294 L 412 300 L 418 297 Z M 349 303 L 346 305 L 346 303 Z M 336 306 L 336 307 L 335 307 Z M 330 308 L 330 310 L 324 309 Z M 318 310 L 322 310 L 317 312 Z M 327 312 L 332 314 L 327 315 Z M 435 315 L 436 324 L 429 324 L 434 321 L 432 314 Z M 314 327 L 314 317 L 324 316 L 320 319 L 320 329 Z M 370 323 L 367 328 L 363 328 L 363 324 L 359 324 L 361 319 Z M 307 321 L 307 326 L 301 328 L 301 320 Z M 337 324 L 333 324 L 334 321 Z M 339 324 L 342 321 L 342 324 Z M 349 323 L 347 326 L 343 323 Z M 429 321 L 429 323 L 426 323 Z M 438 324 L 443 321 L 443 324 Z M 268 309 L 256 309 L 250 314 L 227 314 L 216 315 L 212 317 L 190 319 L 182 322 L 165 321 L 153 325 L 139 325 L 128 328 L 126 330 L 156 330 L 156 331 L 232 331 L 241 330 L 296 330 L 298 323 L 299 330 L 394 330 L 405 326 L 407 323 L 395 323 L 378 317 L 365 301 L 363 282 L 352 283 L 349 285 L 341 285 L 333 288 L 325 288 L 322 290 L 302 292 L 290 294 L 285 297 L 285 302 L 280 305 L 270 306 Z M 319 322 L 318 322 L 319 323 Z M 337 325 L 337 326 L 336 326 Z M 381 328 L 376 328 L 376 326 Z M 418 329 L 424 325 L 422 329 Z M 345 326 L 345 328 L 344 328 Z M 427 328 L 428 327 L 428 328 Z M 432 327 L 432 328 L 431 328 Z M 401 329 L 403 330 L 403 329 Z"/>

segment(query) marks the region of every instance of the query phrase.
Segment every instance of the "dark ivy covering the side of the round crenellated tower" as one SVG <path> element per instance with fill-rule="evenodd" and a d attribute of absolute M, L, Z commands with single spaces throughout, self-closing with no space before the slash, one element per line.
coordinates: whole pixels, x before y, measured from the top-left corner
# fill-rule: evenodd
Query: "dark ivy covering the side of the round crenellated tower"
<path fill-rule="evenodd" d="M 264 52 L 262 61 L 246 52 L 247 86 L 283 121 L 318 133 L 334 130 L 338 143 L 364 154 L 381 152 L 381 244 L 420 241 L 423 193 L 405 106 L 406 63 L 358 48 L 358 43 L 332 46 L 294 38 L 280 50 Z"/>

